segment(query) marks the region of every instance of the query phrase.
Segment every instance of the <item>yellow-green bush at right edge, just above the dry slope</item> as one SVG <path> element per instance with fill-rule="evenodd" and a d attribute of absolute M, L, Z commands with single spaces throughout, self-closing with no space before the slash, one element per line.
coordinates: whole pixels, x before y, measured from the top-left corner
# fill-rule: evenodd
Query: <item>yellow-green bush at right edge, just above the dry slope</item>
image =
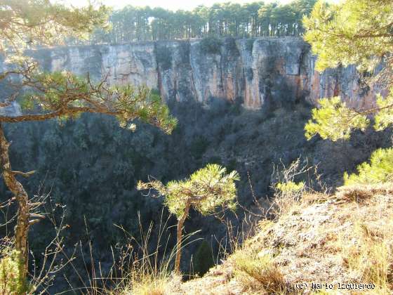
<path fill-rule="evenodd" d="M 357 166 L 357 172 L 348 176 L 344 173 L 345 185 L 386 183 L 393 180 L 393 148 L 378 149 L 373 152 L 370 164 Z"/>

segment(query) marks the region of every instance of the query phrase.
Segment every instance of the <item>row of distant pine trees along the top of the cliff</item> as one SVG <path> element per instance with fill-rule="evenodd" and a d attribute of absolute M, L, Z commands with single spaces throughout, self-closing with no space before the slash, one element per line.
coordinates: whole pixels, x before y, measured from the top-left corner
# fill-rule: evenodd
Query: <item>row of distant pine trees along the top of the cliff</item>
<path fill-rule="evenodd" d="M 192 11 L 126 6 L 110 17 L 112 29 L 93 34 L 94 42 L 121 43 L 168 39 L 215 37 L 299 36 L 302 16 L 316 0 L 295 0 L 291 4 L 223 3 L 198 6 Z"/>

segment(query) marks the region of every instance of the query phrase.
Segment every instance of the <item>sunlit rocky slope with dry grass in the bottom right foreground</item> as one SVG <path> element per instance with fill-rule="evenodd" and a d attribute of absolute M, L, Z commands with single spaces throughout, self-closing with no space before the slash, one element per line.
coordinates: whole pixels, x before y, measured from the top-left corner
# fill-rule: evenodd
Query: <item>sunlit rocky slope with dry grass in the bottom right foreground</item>
<path fill-rule="evenodd" d="M 170 292 L 392 294 L 392 217 L 391 184 L 305 195 L 225 263 Z"/>

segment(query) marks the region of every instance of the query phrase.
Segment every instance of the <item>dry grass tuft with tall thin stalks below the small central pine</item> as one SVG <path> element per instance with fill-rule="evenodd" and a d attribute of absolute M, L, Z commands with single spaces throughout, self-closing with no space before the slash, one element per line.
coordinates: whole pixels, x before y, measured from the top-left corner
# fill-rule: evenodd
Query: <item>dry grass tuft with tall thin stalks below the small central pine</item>
<path fill-rule="evenodd" d="M 69 291 L 75 293 L 91 295 L 166 295 L 178 294 L 181 284 L 181 275 L 173 273 L 173 261 L 175 249 L 167 249 L 170 235 L 168 231 L 168 220 L 163 219 L 161 212 L 160 223 L 154 228 L 150 223 L 149 228 L 144 230 L 140 222 L 140 240 L 135 239 L 131 234 L 124 230 L 128 237 L 128 244 L 116 249 L 115 254 L 112 250 L 113 264 L 109 273 L 103 274 L 101 268 L 91 270 L 87 273 L 90 284 L 83 289 L 72 288 Z M 152 232 L 158 235 L 155 243 L 152 243 Z M 187 246 L 192 240 L 194 233 L 183 237 L 183 245 Z M 163 237 L 166 236 L 166 240 Z M 132 246 L 135 245 L 135 246 Z M 152 246 L 155 247 L 152 247 Z M 93 258 L 91 257 L 93 261 Z M 92 265 L 94 265 L 92 263 Z M 100 263 L 98 263 L 100 266 Z M 77 270 L 76 270 L 77 272 Z M 77 273 L 79 277 L 81 274 Z M 68 294 L 68 293 L 67 293 Z M 76 294 L 76 293 L 75 293 Z M 79 294 L 79 293 L 78 293 Z"/>

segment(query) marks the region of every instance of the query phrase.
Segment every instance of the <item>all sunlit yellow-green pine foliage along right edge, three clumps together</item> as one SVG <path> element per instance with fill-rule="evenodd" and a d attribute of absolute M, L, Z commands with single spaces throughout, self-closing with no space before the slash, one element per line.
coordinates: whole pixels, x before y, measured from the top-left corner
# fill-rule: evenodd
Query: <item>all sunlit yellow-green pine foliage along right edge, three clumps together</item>
<path fill-rule="evenodd" d="M 369 83 L 380 84 L 390 91 L 377 96 L 376 106 L 365 109 L 347 107 L 340 97 L 319 100 L 312 119 L 305 126 L 307 139 L 348 139 L 352 130 L 364 131 L 373 120 L 377 131 L 393 124 L 393 1 L 345 0 L 328 5 L 319 1 L 303 20 L 305 40 L 318 55 L 317 70 L 356 64 L 360 72 L 371 73 Z M 382 67 L 382 69 L 380 69 Z M 392 169 L 382 165 L 393 157 L 391 149 L 376 152 L 371 164 L 358 167 L 359 176 L 345 175 L 345 183 L 392 180 Z M 383 168 L 385 167 L 385 168 Z"/>

